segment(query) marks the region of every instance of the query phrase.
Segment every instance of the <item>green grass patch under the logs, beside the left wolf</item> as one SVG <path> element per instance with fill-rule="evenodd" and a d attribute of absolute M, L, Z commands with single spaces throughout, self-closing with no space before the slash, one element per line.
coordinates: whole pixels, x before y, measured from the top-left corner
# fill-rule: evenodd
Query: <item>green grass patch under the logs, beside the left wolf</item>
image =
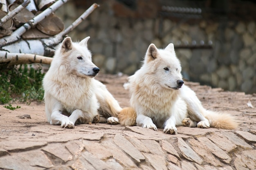
<path fill-rule="evenodd" d="M 0 73 L 0 104 L 6 104 L 18 99 L 30 104 L 32 101 L 43 100 L 42 68 L 34 69 L 31 66 L 15 66 L 11 70 Z"/>

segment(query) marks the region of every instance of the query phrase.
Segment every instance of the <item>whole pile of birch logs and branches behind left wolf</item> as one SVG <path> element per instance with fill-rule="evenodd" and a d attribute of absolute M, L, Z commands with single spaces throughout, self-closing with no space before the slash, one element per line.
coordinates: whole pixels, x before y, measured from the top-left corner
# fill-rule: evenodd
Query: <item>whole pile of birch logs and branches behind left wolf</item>
<path fill-rule="evenodd" d="M 67 1 L 0 0 L 0 70 L 17 64 L 50 64 L 56 45 L 99 7 L 92 4 L 64 29 L 54 11 Z"/>

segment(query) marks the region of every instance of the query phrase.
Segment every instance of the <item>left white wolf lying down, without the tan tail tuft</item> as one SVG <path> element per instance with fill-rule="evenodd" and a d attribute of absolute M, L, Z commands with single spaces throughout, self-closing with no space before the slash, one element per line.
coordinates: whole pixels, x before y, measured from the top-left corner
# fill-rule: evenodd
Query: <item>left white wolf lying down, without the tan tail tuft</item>
<path fill-rule="evenodd" d="M 107 122 L 117 124 L 121 107 L 94 76 L 99 68 L 92 63 L 87 41 L 59 44 L 49 71 L 43 79 L 45 112 L 50 124 L 74 128 L 74 124 Z M 108 118 L 108 119 L 107 119 Z"/>

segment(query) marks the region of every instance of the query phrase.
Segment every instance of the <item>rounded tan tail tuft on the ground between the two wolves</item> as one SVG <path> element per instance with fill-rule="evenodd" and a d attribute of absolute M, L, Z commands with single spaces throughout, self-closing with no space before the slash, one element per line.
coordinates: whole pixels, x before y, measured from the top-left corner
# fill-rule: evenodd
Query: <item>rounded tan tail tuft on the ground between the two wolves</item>
<path fill-rule="evenodd" d="M 136 112 L 131 107 L 123 108 L 118 115 L 119 124 L 124 126 L 135 126 L 136 118 Z"/>

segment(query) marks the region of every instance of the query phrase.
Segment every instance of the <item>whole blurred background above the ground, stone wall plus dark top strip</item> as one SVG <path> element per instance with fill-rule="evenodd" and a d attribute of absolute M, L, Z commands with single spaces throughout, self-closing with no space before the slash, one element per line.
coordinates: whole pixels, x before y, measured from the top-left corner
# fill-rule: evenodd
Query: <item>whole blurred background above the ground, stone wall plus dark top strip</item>
<path fill-rule="evenodd" d="M 132 75 L 150 43 L 173 43 L 184 79 L 256 93 L 254 0 L 70 0 L 56 11 L 65 28 L 100 5 L 68 35 L 90 36 L 101 73 Z"/>

